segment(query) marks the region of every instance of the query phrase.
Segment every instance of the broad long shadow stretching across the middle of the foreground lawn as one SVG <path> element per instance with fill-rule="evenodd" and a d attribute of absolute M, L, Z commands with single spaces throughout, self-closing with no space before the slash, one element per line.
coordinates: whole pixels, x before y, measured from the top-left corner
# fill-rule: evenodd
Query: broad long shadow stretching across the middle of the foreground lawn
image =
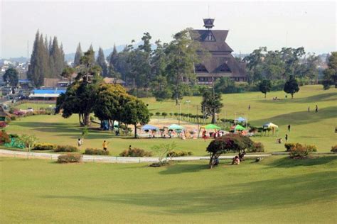
<path fill-rule="evenodd" d="M 129 206 L 144 206 L 147 213 L 171 215 L 186 213 L 215 213 L 245 209 L 274 209 L 287 206 L 333 201 L 337 198 L 337 172 L 316 172 L 250 181 L 247 183 L 210 185 L 200 189 L 177 187 L 164 191 L 154 190 L 128 194 L 88 195 L 45 195 L 46 200 L 64 199 L 84 203 L 121 203 Z M 209 181 L 200 180 L 200 181 Z M 181 183 L 184 181 L 181 180 Z M 186 183 L 186 181 L 185 181 Z M 132 192 L 132 191 L 131 191 Z"/>

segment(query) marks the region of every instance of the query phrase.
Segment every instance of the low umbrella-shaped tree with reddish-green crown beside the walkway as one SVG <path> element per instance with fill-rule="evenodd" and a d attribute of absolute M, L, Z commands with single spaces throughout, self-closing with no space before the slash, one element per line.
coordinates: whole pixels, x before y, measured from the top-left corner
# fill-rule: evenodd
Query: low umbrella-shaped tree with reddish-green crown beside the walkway
<path fill-rule="evenodd" d="M 223 153 L 239 152 L 245 154 L 245 150 L 252 147 L 253 142 L 247 136 L 227 134 L 216 138 L 208 145 L 206 151 L 210 153 L 210 168 L 213 168 L 218 158 Z"/>

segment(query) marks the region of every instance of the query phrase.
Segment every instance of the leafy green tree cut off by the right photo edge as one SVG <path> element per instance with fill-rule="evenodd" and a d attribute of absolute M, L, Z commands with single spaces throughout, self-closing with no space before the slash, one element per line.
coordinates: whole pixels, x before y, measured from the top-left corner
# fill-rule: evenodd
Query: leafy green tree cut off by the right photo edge
<path fill-rule="evenodd" d="M 329 89 L 331 84 L 337 88 L 337 52 L 331 52 L 327 64 L 328 68 L 323 72 L 324 89 Z"/>

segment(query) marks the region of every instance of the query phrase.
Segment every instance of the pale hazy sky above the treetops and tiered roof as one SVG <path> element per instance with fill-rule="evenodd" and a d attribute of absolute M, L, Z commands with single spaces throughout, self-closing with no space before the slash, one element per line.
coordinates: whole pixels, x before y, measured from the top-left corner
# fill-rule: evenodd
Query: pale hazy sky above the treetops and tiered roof
<path fill-rule="evenodd" d="M 316 54 L 336 50 L 336 1 L 6 1 L 0 0 L 0 58 L 29 55 L 37 30 L 58 37 L 65 53 L 90 44 L 107 49 L 140 41 L 169 42 L 184 28 L 229 30 L 226 42 L 235 53 L 267 46 L 305 47 Z M 208 9 L 209 8 L 209 9 Z"/>

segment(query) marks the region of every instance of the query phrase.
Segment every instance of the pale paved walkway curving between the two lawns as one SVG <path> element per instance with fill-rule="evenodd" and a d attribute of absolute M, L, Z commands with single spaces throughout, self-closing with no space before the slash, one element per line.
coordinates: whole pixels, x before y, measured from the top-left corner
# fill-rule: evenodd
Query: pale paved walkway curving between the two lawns
<path fill-rule="evenodd" d="M 34 159 L 50 159 L 57 160 L 60 154 L 44 153 L 44 152 L 21 152 L 11 150 L 0 150 L 0 156 L 3 157 L 27 157 Z M 264 155 L 245 155 L 245 157 L 269 157 L 271 154 Z M 223 155 L 219 159 L 232 159 L 234 155 Z M 173 161 L 195 161 L 200 159 L 210 159 L 210 157 L 173 157 Z M 158 162 L 158 157 L 111 157 L 103 155 L 83 155 L 83 162 L 111 162 L 111 163 L 139 163 L 139 162 Z"/>

